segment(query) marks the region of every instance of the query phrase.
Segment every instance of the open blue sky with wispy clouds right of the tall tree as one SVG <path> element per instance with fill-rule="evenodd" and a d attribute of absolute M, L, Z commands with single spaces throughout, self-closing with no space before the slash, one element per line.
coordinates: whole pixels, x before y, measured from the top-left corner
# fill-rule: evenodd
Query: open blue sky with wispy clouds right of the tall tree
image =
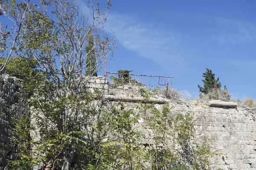
<path fill-rule="evenodd" d="M 107 71 L 173 76 L 173 87 L 195 93 L 210 68 L 234 97 L 256 98 L 255 6 L 254 0 L 113 0 L 105 30 L 115 32 L 118 46 Z"/>

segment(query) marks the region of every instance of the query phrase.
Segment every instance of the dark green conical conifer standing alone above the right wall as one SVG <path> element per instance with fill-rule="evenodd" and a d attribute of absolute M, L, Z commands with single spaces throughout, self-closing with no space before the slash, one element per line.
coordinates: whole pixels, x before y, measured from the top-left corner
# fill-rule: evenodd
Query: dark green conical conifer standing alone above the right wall
<path fill-rule="evenodd" d="M 198 85 L 199 91 L 203 94 L 207 94 L 209 91 L 214 88 L 214 84 L 216 83 L 217 88 L 221 88 L 221 82 L 219 82 L 219 77 L 215 79 L 215 74 L 212 73 L 212 70 L 209 68 L 206 68 L 206 72 L 203 73 L 204 79 L 202 81 L 204 82 L 204 87 L 201 87 Z"/>

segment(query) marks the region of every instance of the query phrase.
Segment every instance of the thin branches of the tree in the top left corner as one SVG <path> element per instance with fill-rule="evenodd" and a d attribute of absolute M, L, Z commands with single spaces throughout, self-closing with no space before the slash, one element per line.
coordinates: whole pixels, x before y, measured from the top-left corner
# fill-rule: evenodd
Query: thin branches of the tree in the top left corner
<path fill-rule="evenodd" d="M 29 17 L 29 8 L 33 8 L 29 1 L 2 0 L 0 2 L 0 16 L 9 19 L 10 22 L 0 21 L 0 59 L 4 59 L 0 65 L 0 72 L 6 65 L 18 57 L 24 56 L 29 37 L 35 30 L 29 30 L 32 23 L 26 22 Z M 2 60 L 3 61 L 3 60 Z"/>

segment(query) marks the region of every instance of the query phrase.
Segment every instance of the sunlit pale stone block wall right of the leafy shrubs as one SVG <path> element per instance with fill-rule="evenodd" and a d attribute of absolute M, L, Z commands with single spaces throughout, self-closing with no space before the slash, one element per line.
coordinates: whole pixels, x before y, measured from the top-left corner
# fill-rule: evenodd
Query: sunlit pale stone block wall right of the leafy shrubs
<path fill-rule="evenodd" d="M 122 99 L 122 97 L 121 97 Z M 117 105 L 117 101 L 109 102 L 111 107 Z M 135 103 L 125 102 L 127 108 L 136 108 Z M 213 170 L 255 170 L 256 169 L 256 108 L 214 108 L 202 105 L 198 102 L 187 101 L 177 104 L 169 101 L 172 108 L 172 116 L 178 113 L 194 114 L 195 141 L 203 142 L 210 139 L 212 151 L 219 153 L 210 160 Z M 155 104 L 162 110 L 163 104 Z M 150 130 L 143 126 L 140 119 L 137 127 L 142 128 L 143 133 Z M 152 144 L 151 134 L 145 134 L 144 143 Z"/>

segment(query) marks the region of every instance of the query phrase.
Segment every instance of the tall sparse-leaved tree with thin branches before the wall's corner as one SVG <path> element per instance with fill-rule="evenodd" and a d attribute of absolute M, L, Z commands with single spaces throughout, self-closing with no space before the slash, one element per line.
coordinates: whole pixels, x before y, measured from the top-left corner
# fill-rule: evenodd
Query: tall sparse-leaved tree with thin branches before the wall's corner
<path fill-rule="evenodd" d="M 91 19 L 79 9 L 80 3 L 87 5 Z M 33 143 L 34 150 L 29 152 L 29 156 L 18 156 L 16 161 L 10 162 L 12 169 L 29 170 L 38 164 L 43 169 L 52 167 L 62 170 L 86 166 L 80 159 L 88 147 L 88 138 L 83 138 L 88 134 L 84 127 L 91 125 L 97 113 L 85 89 L 86 59 L 90 54 L 86 47 L 90 42 L 87 41 L 89 34 L 93 33 L 97 61 L 95 71 L 100 69 L 104 59 L 103 42 L 110 44 L 106 56 L 113 54 L 111 48 L 114 41 L 103 37 L 103 28 L 99 28 L 106 21 L 110 0 L 106 0 L 106 4 L 107 10 L 101 12 L 101 4 L 93 0 L 42 0 L 41 4 L 5 0 L 1 3 L 4 17 L 10 22 L 15 21 L 15 27 L 10 28 L 13 29 L 11 32 L 6 30 L 9 27 L 1 27 L 0 43 L 3 46 L 0 51 L 4 54 L 0 53 L 0 57 L 5 58 L 4 66 L 15 59 L 23 64 L 32 62 L 32 70 L 28 64 L 26 72 L 14 69 L 14 74 L 24 78 L 24 85 L 28 82 L 33 85 L 30 88 L 33 93 L 27 102 L 32 106 L 32 122 L 38 135 L 38 141 Z M 10 44 L 9 40 L 15 41 Z M 23 71 L 26 68 L 22 64 L 19 66 Z M 38 77 L 29 77 L 34 74 Z"/>

